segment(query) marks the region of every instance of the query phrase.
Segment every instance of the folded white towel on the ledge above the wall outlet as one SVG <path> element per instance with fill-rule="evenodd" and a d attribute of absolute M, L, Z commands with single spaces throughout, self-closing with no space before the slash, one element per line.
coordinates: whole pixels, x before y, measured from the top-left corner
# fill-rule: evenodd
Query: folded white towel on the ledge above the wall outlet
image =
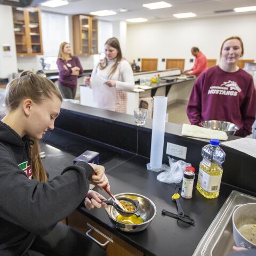
<path fill-rule="evenodd" d="M 202 139 L 217 139 L 217 140 L 228 139 L 228 135 L 226 132 L 207 129 L 204 127 L 200 127 L 197 125 L 190 125 L 190 124 L 183 124 L 181 135 L 202 138 Z"/>

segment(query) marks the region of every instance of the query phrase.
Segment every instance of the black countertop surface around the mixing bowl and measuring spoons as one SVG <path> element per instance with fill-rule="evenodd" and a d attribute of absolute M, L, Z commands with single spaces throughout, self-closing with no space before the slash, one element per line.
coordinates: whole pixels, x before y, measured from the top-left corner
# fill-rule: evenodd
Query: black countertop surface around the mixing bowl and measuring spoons
<path fill-rule="evenodd" d="M 44 143 L 41 149 L 46 152 L 43 163 L 47 172 L 50 173 L 50 178 L 60 174 L 67 165 L 72 164 L 75 158 L 72 154 Z M 162 209 L 177 213 L 176 205 L 171 200 L 175 184 L 159 182 L 156 179 L 159 173 L 146 169 L 148 162 L 149 159 L 146 157 L 138 155 L 127 157 L 119 154 L 103 164 L 114 195 L 126 192 L 138 193 L 155 203 L 157 213 L 147 229 L 139 233 L 125 233 L 111 224 L 104 209 L 87 211 L 81 208 L 78 210 L 146 255 L 192 255 L 231 191 L 233 189 L 244 191 L 222 183 L 219 197 L 206 199 L 196 190 L 195 180 L 193 198 L 180 199 L 185 213 L 196 221 L 195 226 L 189 226 L 161 214 Z M 98 188 L 95 190 L 108 198 L 105 191 L 100 191 Z M 248 191 L 246 193 L 248 194 Z M 255 196 L 253 193 L 249 192 L 249 194 Z"/>

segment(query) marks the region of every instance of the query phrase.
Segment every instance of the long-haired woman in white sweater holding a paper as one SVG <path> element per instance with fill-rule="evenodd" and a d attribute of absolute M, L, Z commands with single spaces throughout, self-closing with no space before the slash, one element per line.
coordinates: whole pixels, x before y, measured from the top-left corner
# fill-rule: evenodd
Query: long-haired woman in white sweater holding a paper
<path fill-rule="evenodd" d="M 93 90 L 98 108 L 126 113 L 127 91 L 134 89 L 132 68 L 123 59 L 119 41 L 111 37 L 105 43 L 106 57 L 93 68 L 91 77 L 84 84 Z"/>

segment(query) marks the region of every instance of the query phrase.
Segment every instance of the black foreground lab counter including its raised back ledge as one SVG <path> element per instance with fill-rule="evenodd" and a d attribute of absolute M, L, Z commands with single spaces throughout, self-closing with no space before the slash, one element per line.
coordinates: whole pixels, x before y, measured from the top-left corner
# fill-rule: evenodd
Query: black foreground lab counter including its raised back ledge
<path fill-rule="evenodd" d="M 256 196 L 256 159 L 225 146 L 221 146 L 226 153 L 226 161 L 223 164 L 219 197 L 206 199 L 199 194 L 196 181 L 202 159 L 201 150 L 209 140 L 182 137 L 181 125 L 166 123 L 163 163 L 168 163 L 166 144 L 171 142 L 187 147 L 185 161 L 196 168 L 193 197 L 180 199 L 183 210 L 195 220 L 195 225 L 184 225 L 181 221 L 163 216 L 163 209 L 177 213 L 175 203 L 171 201 L 175 184 L 159 182 L 156 179 L 159 173 L 146 169 L 150 161 L 151 129 L 151 119 L 147 119 L 145 127 L 138 127 L 132 115 L 63 102 L 60 116 L 55 121 L 55 129 L 44 136 L 44 143 L 60 150 L 58 153 L 54 149 L 56 154 L 63 152 L 59 158 L 61 164 L 58 164 L 56 157 L 50 158 L 51 154 L 46 152 L 44 163 L 48 172 L 55 168 L 57 175 L 64 166 L 71 164 L 73 157 L 86 149 L 98 151 L 113 194 L 138 193 L 155 203 L 157 213 L 153 221 L 146 230 L 134 234 L 117 230 L 104 209 L 87 211 L 82 207 L 68 217 L 68 225 L 79 231 L 88 231 L 86 227 L 90 222 L 101 233 L 106 232 L 107 236 L 112 237 L 114 243 L 118 240 L 117 245 L 125 243 L 117 254 L 108 252 L 108 255 L 190 256 L 232 190 Z M 237 138 L 229 136 L 228 140 Z M 45 146 L 46 149 L 50 150 L 50 147 Z M 99 192 L 108 198 L 105 191 Z M 116 248 L 117 245 L 112 247 Z M 125 248 L 129 248 L 126 253 L 123 252 Z"/>

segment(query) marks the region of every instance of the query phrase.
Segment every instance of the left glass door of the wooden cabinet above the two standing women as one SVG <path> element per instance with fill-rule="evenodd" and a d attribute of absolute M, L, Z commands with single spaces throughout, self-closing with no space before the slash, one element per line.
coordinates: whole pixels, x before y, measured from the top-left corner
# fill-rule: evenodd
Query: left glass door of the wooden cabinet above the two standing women
<path fill-rule="evenodd" d="M 82 54 L 90 54 L 90 17 L 80 15 Z"/>

